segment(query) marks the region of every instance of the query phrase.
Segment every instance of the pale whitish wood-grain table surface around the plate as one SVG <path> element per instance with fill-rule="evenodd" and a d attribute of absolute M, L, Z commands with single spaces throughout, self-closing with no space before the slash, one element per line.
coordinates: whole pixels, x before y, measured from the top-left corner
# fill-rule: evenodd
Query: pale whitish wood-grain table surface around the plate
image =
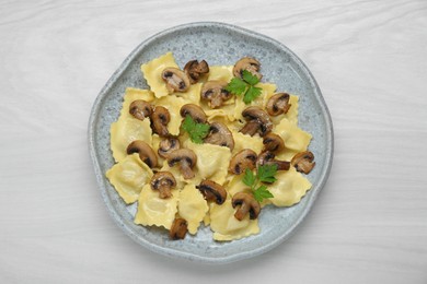
<path fill-rule="evenodd" d="M 113 223 L 88 151 L 95 97 L 174 25 L 270 36 L 310 68 L 335 155 L 285 244 L 227 265 L 168 259 Z M 427 2 L 0 1 L 1 283 L 427 283 Z"/>

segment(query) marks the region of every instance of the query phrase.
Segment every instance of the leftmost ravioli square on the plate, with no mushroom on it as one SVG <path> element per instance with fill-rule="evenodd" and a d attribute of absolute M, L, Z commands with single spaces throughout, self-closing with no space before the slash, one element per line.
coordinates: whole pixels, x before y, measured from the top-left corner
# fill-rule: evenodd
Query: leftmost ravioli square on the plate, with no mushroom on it
<path fill-rule="evenodd" d="M 137 153 L 126 156 L 106 171 L 106 177 L 120 198 L 127 203 L 138 200 L 142 187 L 151 179 L 153 173 Z"/>

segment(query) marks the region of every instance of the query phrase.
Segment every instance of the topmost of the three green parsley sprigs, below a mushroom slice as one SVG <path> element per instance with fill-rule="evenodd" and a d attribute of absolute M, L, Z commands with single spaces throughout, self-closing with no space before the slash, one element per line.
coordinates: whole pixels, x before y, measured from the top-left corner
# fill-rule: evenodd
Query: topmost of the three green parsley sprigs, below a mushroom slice
<path fill-rule="evenodd" d="M 243 79 L 234 76 L 226 86 L 226 90 L 234 95 L 243 96 L 243 102 L 247 105 L 257 98 L 263 90 L 255 86 L 259 83 L 259 79 L 247 70 L 243 70 L 242 78 Z"/>

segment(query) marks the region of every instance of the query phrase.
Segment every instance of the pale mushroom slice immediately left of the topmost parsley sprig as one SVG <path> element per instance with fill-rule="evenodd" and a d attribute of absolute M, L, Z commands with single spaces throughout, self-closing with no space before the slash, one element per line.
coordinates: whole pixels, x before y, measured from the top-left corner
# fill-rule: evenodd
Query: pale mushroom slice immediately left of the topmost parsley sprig
<path fill-rule="evenodd" d="M 211 108 L 218 108 L 231 97 L 231 93 L 226 90 L 227 84 L 223 80 L 208 81 L 201 87 L 200 97 L 208 100 Z"/>

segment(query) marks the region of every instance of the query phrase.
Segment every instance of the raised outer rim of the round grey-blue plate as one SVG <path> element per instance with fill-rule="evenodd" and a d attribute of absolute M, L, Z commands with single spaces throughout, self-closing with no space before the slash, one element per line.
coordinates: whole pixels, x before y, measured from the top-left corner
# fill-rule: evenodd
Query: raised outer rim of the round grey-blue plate
<path fill-rule="evenodd" d="M 245 36 L 250 36 L 252 38 L 257 38 L 263 42 L 267 42 L 279 49 L 285 50 L 289 56 L 295 60 L 301 68 L 301 71 L 307 74 L 307 78 L 311 81 L 311 85 L 314 86 L 315 92 L 314 92 L 314 97 L 318 99 L 319 105 L 322 109 L 322 114 L 325 118 L 325 135 L 326 135 L 326 142 L 330 145 L 327 149 L 326 155 L 325 155 L 325 167 L 322 168 L 322 171 L 320 173 L 320 178 L 319 178 L 319 184 L 313 186 L 310 191 L 312 192 L 310 197 L 304 197 L 309 199 L 309 204 L 302 210 L 301 214 L 298 216 L 298 218 L 292 223 L 292 225 L 288 228 L 287 232 L 285 232 L 280 238 L 275 239 L 274 241 L 270 241 L 264 246 L 261 246 L 258 248 L 255 248 L 250 251 L 241 251 L 239 253 L 233 253 L 230 256 L 224 256 L 224 257 L 209 257 L 209 256 L 200 256 L 200 255 L 195 255 L 195 253 L 189 253 L 185 251 L 180 251 L 180 250 L 174 250 L 171 248 L 165 248 L 161 247 L 158 245 L 153 245 L 152 242 L 149 242 L 146 239 L 141 239 L 137 234 L 135 234 L 124 222 L 122 221 L 122 216 L 116 212 L 114 206 L 111 204 L 109 199 L 107 197 L 106 190 L 104 189 L 105 187 L 105 180 L 103 178 L 103 173 L 101 169 L 100 162 L 96 156 L 96 149 L 95 149 L 95 126 L 96 122 L 99 121 L 99 111 L 101 108 L 101 103 L 106 98 L 106 95 L 108 94 L 109 88 L 113 86 L 115 81 L 127 70 L 129 64 L 132 62 L 132 60 L 138 56 L 142 49 L 150 45 L 152 42 L 157 40 L 159 37 L 166 36 L 171 33 L 181 31 L 181 29 L 186 29 L 186 28 L 194 28 L 194 27 L 221 27 L 224 29 L 231 29 L 232 32 L 236 32 L 240 34 L 243 34 Z M 222 263 L 229 263 L 229 262 L 234 262 L 239 260 L 243 260 L 246 258 L 255 257 L 258 255 L 262 255 L 264 252 L 267 252 L 272 250 L 273 248 L 277 247 L 278 245 L 285 242 L 288 238 L 290 238 L 297 230 L 297 228 L 300 226 L 300 224 L 304 221 L 304 218 L 308 216 L 309 212 L 313 208 L 315 200 L 318 199 L 320 192 L 324 188 L 332 168 L 332 162 L 333 162 L 333 156 L 334 156 L 334 131 L 333 131 L 333 123 L 332 123 L 332 118 L 330 110 L 327 108 L 327 105 L 324 100 L 323 94 L 318 85 L 318 82 L 315 81 L 313 74 L 309 70 L 309 68 L 305 66 L 305 63 L 292 51 L 290 50 L 287 46 L 281 44 L 280 42 L 266 36 L 264 34 L 246 29 L 244 27 L 229 24 L 229 23 L 223 23 L 223 22 L 212 22 L 212 21 L 207 21 L 207 22 L 191 22 L 191 23 L 185 23 L 185 24 L 180 24 L 175 25 L 169 28 L 165 28 L 161 32 L 154 33 L 152 36 L 143 39 L 134 50 L 125 58 L 125 60 L 122 62 L 122 64 L 116 69 L 116 71 L 112 74 L 112 76 L 107 80 L 105 85 L 102 87 L 101 92 L 97 94 L 92 108 L 91 108 L 91 114 L 89 118 L 89 123 L 88 123 L 88 141 L 89 141 L 89 152 L 90 156 L 92 159 L 92 165 L 93 169 L 95 171 L 96 176 L 96 184 L 97 188 L 101 191 L 101 196 L 103 198 L 103 202 L 106 205 L 106 209 L 108 211 L 108 214 L 114 220 L 114 223 L 122 228 L 122 230 L 130 237 L 137 244 L 141 245 L 142 247 L 157 252 L 159 255 L 172 257 L 172 258 L 183 258 L 187 259 L 191 261 L 198 261 L 200 263 L 207 263 L 207 264 L 222 264 Z"/>

